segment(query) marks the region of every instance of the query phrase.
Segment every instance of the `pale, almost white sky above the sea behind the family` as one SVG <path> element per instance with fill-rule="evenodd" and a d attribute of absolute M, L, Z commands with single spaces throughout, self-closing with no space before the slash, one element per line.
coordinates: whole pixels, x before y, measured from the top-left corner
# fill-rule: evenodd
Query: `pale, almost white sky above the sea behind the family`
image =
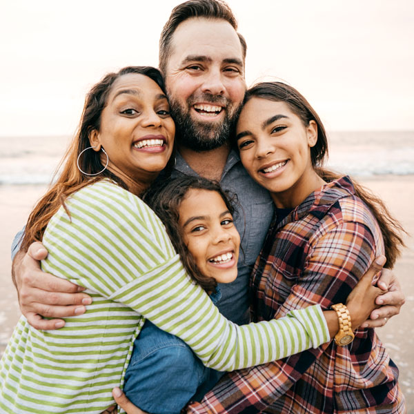
<path fill-rule="evenodd" d="M 0 135 L 72 135 L 106 72 L 158 63 L 177 0 L 1 0 Z M 282 79 L 328 130 L 414 130 L 412 0 L 228 0 L 246 81 Z"/>

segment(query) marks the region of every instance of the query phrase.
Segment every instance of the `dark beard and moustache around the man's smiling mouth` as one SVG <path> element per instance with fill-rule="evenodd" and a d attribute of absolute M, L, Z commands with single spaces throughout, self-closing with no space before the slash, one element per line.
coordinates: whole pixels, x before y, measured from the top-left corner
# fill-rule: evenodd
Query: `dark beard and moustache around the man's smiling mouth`
<path fill-rule="evenodd" d="M 220 122 L 194 120 L 190 111 L 195 102 L 221 104 L 224 106 L 224 119 Z M 214 150 L 226 144 L 242 110 L 242 103 L 233 108 L 227 98 L 210 94 L 192 96 L 186 101 L 186 106 L 184 108 L 177 99 L 170 97 L 170 112 L 175 121 L 175 139 L 179 146 L 197 152 Z"/>

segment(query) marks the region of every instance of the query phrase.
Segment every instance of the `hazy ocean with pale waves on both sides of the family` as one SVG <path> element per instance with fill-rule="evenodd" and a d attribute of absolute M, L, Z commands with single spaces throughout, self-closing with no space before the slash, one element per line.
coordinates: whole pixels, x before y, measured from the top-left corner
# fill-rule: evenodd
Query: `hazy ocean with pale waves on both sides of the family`
<path fill-rule="evenodd" d="M 326 166 L 354 177 L 414 175 L 414 131 L 331 132 Z M 70 137 L 0 137 L 0 185 L 48 184 Z"/>

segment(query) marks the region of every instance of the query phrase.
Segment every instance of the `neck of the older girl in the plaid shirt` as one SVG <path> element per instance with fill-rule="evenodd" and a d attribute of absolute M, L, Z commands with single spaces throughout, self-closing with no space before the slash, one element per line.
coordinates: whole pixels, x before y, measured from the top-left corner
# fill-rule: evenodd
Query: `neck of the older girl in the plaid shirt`
<path fill-rule="evenodd" d="M 301 204 L 308 195 L 319 190 L 326 181 L 324 181 L 315 170 L 312 170 L 302 176 L 288 190 L 280 193 L 270 193 L 273 202 L 277 208 L 295 208 Z"/>

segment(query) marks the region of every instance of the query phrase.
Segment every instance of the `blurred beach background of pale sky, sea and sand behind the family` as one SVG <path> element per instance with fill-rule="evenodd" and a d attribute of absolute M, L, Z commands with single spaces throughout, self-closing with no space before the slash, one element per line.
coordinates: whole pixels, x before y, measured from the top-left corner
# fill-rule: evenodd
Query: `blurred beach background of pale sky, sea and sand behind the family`
<path fill-rule="evenodd" d="M 19 317 L 10 244 L 106 72 L 158 63 L 179 1 L 16 0 L 0 15 L 0 353 Z M 295 86 L 324 121 L 329 165 L 362 181 L 414 233 L 414 3 L 228 0 L 248 43 L 246 81 Z M 377 332 L 400 367 L 414 413 L 414 240 L 395 266 L 402 315 Z"/>

